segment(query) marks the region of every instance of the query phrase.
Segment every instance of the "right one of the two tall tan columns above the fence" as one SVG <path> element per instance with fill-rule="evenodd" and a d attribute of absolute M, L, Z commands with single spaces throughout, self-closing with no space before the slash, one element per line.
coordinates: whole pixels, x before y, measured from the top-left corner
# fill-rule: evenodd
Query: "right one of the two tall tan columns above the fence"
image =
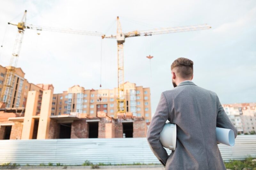
<path fill-rule="evenodd" d="M 37 139 L 48 139 L 52 110 L 52 90 L 44 90 L 37 131 Z"/>

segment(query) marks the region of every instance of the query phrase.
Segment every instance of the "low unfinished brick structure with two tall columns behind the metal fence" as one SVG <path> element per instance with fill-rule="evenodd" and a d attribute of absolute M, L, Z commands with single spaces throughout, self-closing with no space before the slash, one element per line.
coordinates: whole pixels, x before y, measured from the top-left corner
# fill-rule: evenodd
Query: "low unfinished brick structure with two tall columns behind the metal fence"
<path fill-rule="evenodd" d="M 41 106 L 39 95 L 29 91 L 26 108 L 1 108 L 0 139 L 146 137 L 144 117 L 132 112 L 118 113 L 116 118 L 103 111 L 96 116 L 77 112 L 51 115 L 52 90 L 42 92 Z"/>

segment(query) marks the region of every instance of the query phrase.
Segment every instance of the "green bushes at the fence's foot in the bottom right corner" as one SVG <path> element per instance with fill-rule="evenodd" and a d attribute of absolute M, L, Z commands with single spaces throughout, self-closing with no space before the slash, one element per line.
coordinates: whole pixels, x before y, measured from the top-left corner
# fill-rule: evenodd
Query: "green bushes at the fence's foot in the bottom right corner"
<path fill-rule="evenodd" d="M 248 157 L 245 160 L 230 160 L 230 162 L 225 162 L 227 169 L 241 170 L 243 168 L 256 170 L 256 161 L 252 161 L 252 157 Z"/>

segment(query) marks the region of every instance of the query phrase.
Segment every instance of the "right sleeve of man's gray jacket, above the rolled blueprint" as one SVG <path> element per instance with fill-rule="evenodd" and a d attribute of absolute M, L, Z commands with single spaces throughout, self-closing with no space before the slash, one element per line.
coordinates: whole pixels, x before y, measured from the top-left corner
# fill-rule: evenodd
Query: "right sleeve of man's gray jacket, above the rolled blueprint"
<path fill-rule="evenodd" d="M 217 114 L 217 122 L 216 122 L 216 127 L 219 128 L 225 128 L 225 129 L 232 129 L 235 134 L 235 138 L 237 136 L 237 129 L 233 125 L 233 123 L 230 121 L 228 118 L 228 115 L 224 111 L 223 107 L 220 104 L 219 97 L 217 96 L 217 108 L 218 108 L 218 114 Z"/>

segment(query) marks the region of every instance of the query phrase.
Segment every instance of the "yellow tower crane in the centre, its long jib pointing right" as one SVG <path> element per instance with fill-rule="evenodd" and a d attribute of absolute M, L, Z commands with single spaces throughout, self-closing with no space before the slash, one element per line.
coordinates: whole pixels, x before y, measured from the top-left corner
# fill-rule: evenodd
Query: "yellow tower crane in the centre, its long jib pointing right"
<path fill-rule="evenodd" d="M 115 117 L 119 113 L 125 113 L 125 98 L 124 98 L 124 42 L 125 38 L 136 37 L 136 36 L 151 36 L 156 34 L 164 34 L 164 33 L 177 33 L 177 32 L 185 32 L 185 31 L 196 31 L 203 29 L 210 29 L 211 26 L 207 24 L 203 25 L 194 25 L 194 26 L 179 26 L 179 27 L 167 27 L 167 28 L 159 28 L 145 31 L 131 31 L 128 33 L 123 33 L 119 17 L 117 20 L 117 31 L 116 35 L 105 36 L 102 38 L 114 38 L 117 41 L 117 63 L 118 63 L 118 98 L 117 98 L 117 113 Z"/>

